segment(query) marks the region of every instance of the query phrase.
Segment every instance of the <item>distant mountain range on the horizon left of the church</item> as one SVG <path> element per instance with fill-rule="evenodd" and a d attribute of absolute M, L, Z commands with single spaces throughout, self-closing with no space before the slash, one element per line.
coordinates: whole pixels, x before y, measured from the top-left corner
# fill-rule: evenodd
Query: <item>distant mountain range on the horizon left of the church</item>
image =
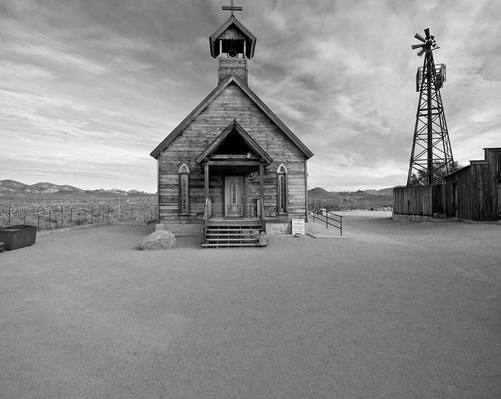
<path fill-rule="evenodd" d="M 118 188 L 105 190 L 83 190 L 72 185 L 59 185 L 54 183 L 41 182 L 36 184 L 25 184 L 15 180 L 0 180 L 0 197 L 35 197 L 35 196 L 50 196 L 50 197 L 122 197 L 122 196 L 148 196 L 156 195 L 150 192 L 129 190 L 124 191 Z"/>

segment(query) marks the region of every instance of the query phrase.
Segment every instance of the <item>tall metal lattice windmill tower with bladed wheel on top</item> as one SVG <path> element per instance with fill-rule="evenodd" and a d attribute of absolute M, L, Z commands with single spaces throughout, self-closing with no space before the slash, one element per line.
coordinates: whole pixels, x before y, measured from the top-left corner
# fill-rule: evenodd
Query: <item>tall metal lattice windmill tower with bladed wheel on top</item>
<path fill-rule="evenodd" d="M 422 43 L 412 45 L 412 49 L 420 48 L 417 55 L 424 54 L 424 62 L 416 74 L 419 103 L 407 185 L 442 183 L 443 177 L 452 171 L 454 161 L 440 96 L 446 77 L 445 65 L 433 62 L 432 51 L 440 47 L 429 28 L 424 29 L 424 33 L 424 38 L 416 33 L 414 37 Z"/>

